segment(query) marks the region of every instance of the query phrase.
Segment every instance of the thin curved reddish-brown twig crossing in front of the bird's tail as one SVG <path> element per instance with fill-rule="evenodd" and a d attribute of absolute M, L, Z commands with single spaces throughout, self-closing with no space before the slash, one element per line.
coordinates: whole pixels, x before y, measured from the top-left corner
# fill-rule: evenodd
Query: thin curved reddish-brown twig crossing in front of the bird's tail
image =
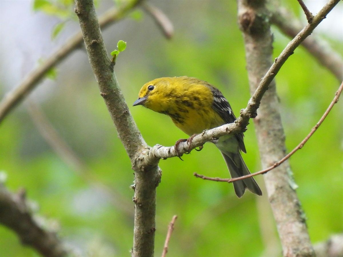
<path fill-rule="evenodd" d="M 270 170 L 274 169 L 275 167 L 279 166 L 280 164 L 282 164 L 285 160 L 287 160 L 289 157 L 291 157 L 296 151 L 298 151 L 299 149 L 303 148 L 304 144 L 310 139 L 310 137 L 316 132 L 316 130 L 319 128 L 319 126 L 323 123 L 324 119 L 328 116 L 328 114 L 331 111 L 333 105 L 338 102 L 338 99 L 340 97 L 340 94 L 342 93 L 342 90 L 343 90 L 343 82 L 341 83 L 339 89 L 335 93 L 335 97 L 331 101 L 331 103 L 330 103 L 329 107 L 327 108 L 327 110 L 324 112 L 322 117 L 319 119 L 318 123 L 311 129 L 310 133 L 304 138 L 304 140 L 301 141 L 297 145 L 297 147 L 295 147 L 285 157 L 283 157 L 281 160 L 279 160 L 279 162 L 274 163 L 274 165 L 268 167 L 267 169 L 263 169 L 263 170 L 257 171 L 255 173 L 252 173 L 252 174 L 249 174 L 249 175 L 245 175 L 245 176 L 241 176 L 241 177 L 237 177 L 237 178 L 230 178 L 230 179 L 206 177 L 204 175 L 199 175 L 196 172 L 194 172 L 193 175 L 195 177 L 197 177 L 197 178 L 202 178 L 202 179 L 205 179 L 205 180 L 231 183 L 231 182 L 234 182 L 234 181 L 237 181 L 237 180 L 242 180 L 242 179 L 250 178 L 250 177 L 253 177 L 253 176 L 256 176 L 256 175 L 267 173 L 268 171 L 270 171 Z"/>

